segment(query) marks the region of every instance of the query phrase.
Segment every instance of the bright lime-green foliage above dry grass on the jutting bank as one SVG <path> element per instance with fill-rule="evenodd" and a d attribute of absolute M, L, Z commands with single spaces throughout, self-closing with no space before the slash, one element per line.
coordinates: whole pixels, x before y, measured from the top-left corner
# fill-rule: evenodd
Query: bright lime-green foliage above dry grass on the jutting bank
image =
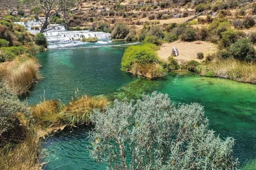
<path fill-rule="evenodd" d="M 156 46 L 152 44 L 129 46 L 122 58 L 122 70 L 129 71 L 134 62 L 140 64 L 158 62 L 157 53 L 153 48 Z"/>

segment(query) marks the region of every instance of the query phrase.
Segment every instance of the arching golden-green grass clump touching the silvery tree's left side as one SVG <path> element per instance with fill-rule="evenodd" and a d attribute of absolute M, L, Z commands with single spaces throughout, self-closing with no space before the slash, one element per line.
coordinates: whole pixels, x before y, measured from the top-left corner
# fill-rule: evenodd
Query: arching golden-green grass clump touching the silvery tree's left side
<path fill-rule="evenodd" d="M 84 95 L 65 106 L 61 115 L 65 122 L 71 126 L 87 124 L 90 122 L 93 109 L 103 111 L 107 104 L 108 100 L 104 97 L 92 98 Z"/>

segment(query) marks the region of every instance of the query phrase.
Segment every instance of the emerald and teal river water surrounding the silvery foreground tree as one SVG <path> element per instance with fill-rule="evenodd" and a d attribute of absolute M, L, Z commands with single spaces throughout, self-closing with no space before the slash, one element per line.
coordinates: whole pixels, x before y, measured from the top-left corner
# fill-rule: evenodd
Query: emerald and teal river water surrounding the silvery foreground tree
<path fill-rule="evenodd" d="M 234 157 L 239 158 L 241 167 L 256 158 L 256 85 L 188 72 L 169 73 L 157 80 L 136 79 L 120 71 L 125 48 L 55 49 L 38 54 L 45 78 L 31 90 L 28 101 L 37 103 L 45 89 L 46 98 L 66 102 L 77 87 L 80 94 L 105 94 L 110 99 L 139 98 L 143 92 L 167 93 L 176 103 L 198 102 L 204 106 L 210 128 L 223 138 L 236 139 Z M 44 169 L 105 169 L 105 165 L 98 165 L 89 157 L 89 129 L 66 129 L 48 137 L 42 145 L 46 153 L 43 161 L 48 162 Z"/>

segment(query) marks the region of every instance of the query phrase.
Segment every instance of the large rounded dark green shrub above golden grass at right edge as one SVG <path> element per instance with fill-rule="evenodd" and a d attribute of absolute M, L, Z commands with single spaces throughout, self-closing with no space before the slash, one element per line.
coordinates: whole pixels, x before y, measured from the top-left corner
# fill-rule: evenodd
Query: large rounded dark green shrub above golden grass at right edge
<path fill-rule="evenodd" d="M 251 62 L 255 59 L 255 51 L 252 42 L 243 38 L 230 46 L 230 51 L 235 59 Z"/>

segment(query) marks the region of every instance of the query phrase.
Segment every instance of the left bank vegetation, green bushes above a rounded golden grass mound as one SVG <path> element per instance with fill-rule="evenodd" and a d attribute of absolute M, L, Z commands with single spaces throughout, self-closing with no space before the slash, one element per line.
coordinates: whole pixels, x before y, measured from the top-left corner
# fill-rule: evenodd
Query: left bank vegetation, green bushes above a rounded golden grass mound
<path fill-rule="evenodd" d="M 44 35 L 34 36 L 11 20 L 0 20 L 0 79 L 7 90 L 24 94 L 40 78 L 40 66 L 31 54 L 46 46 Z"/>

